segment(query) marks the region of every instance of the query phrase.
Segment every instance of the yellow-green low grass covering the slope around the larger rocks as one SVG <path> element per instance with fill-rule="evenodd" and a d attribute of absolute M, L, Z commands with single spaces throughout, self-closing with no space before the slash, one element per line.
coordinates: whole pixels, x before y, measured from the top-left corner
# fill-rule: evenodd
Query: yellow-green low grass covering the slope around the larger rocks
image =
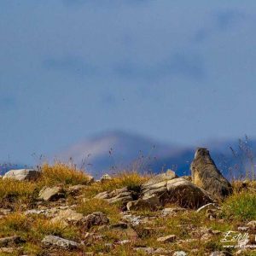
<path fill-rule="evenodd" d="M 0 255 L 149 255 L 146 251 L 134 248 L 160 248 L 162 253 L 155 255 L 172 255 L 170 252 L 184 251 L 188 255 L 209 255 L 214 251 L 235 253 L 236 248 L 224 249 L 221 239 L 224 232 L 236 230 L 247 222 L 256 220 L 255 183 L 248 182 L 250 188 L 242 183 L 233 183 L 234 194 L 221 204 L 221 211 L 216 218 L 208 218 L 206 212 L 185 210 L 171 215 L 162 215 L 161 209 L 151 211 L 131 211 L 133 218 L 143 221 L 128 228 L 120 228 L 114 224 L 124 223 L 124 212 L 119 204 L 96 199 L 100 192 L 113 191 L 126 187 L 137 191 L 149 176 L 137 172 L 119 173 L 109 180 L 90 183 L 90 177 L 75 166 L 55 163 L 41 167 L 42 175 L 37 181 L 16 181 L 0 179 L 0 238 L 20 236 L 22 242 L 13 246 L 12 253 L 4 253 L 0 247 Z M 67 191 L 74 185 L 84 185 L 79 193 L 68 194 L 66 199 L 56 201 L 39 201 L 40 189 L 44 186 L 61 186 Z M 177 208 L 166 205 L 166 208 Z M 55 211 L 51 211 L 51 210 Z M 82 213 L 84 217 L 93 212 L 102 212 L 108 216 L 108 225 L 95 225 L 90 229 L 84 227 L 83 221 L 53 222 L 56 212 L 72 209 Z M 34 210 L 38 212 L 28 213 Z M 41 212 L 40 212 L 41 211 Z M 46 212 L 44 212 L 46 211 Z M 209 231 L 210 230 L 210 231 Z M 213 232 L 216 231 L 216 234 Z M 205 235 L 207 234 L 207 235 Z M 60 236 L 81 243 L 76 250 L 50 248 L 42 245 L 45 236 Z M 173 242 L 158 241 L 160 236 L 175 235 Z M 202 236 L 206 238 L 202 239 Z M 8 246 L 9 247 L 9 246 Z M 166 254 L 165 252 L 169 252 Z M 247 250 L 241 255 L 255 255 L 255 251 Z"/>

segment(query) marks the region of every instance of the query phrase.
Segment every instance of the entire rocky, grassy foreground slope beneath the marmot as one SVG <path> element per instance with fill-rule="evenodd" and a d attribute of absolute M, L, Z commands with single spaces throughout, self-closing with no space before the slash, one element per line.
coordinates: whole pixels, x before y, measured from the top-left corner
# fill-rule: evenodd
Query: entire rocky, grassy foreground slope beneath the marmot
<path fill-rule="evenodd" d="M 9 172 L 0 255 L 256 255 L 256 185 L 232 186 L 216 200 L 172 171 L 99 181 L 60 163 Z"/>

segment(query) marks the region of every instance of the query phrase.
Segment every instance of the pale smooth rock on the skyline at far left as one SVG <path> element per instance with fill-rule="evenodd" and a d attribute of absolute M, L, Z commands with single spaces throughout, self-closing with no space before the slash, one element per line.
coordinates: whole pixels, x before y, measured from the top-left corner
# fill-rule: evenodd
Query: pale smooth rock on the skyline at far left
<path fill-rule="evenodd" d="M 33 169 L 19 169 L 19 170 L 10 170 L 9 172 L 6 172 L 3 176 L 3 178 L 13 178 L 16 180 L 36 180 L 38 177 L 40 177 L 41 172 Z"/>

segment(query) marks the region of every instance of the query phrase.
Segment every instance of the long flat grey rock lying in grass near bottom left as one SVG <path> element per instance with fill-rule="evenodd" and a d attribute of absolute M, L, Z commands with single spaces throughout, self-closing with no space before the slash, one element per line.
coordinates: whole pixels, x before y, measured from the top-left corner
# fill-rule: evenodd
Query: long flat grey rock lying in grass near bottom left
<path fill-rule="evenodd" d="M 70 241 L 59 236 L 45 236 L 42 243 L 46 247 L 61 247 L 64 249 L 77 249 L 80 244 L 76 241 Z"/>

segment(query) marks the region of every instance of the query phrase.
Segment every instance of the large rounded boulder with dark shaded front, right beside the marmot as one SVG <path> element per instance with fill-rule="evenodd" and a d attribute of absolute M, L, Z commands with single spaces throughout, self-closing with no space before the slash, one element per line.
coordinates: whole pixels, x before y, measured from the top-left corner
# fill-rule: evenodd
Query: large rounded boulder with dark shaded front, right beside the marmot
<path fill-rule="evenodd" d="M 198 208 L 212 202 L 205 190 L 181 177 L 168 181 L 167 191 L 166 202 L 177 203 L 180 207 Z"/>

